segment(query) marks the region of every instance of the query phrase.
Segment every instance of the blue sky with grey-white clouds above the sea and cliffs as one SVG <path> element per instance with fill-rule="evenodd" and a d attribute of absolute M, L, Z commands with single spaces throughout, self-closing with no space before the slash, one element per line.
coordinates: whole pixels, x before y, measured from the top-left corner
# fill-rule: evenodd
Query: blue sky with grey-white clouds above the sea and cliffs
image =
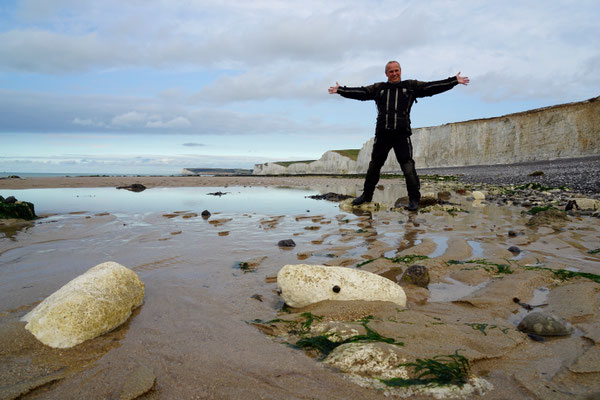
<path fill-rule="evenodd" d="M 329 86 L 471 79 L 412 126 L 600 95 L 600 2 L 1 0 L 0 172 L 179 174 L 358 149 Z"/>

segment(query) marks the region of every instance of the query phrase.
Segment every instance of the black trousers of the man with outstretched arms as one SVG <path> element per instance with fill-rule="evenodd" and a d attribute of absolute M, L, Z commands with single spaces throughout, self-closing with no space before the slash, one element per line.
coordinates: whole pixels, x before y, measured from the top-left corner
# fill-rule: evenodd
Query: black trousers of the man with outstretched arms
<path fill-rule="evenodd" d="M 375 143 L 373 143 L 373 152 L 371 153 L 371 162 L 367 170 L 367 177 L 363 192 L 367 195 L 372 195 L 375 191 L 375 186 L 379 182 L 379 173 L 381 167 L 385 164 L 387 156 L 391 149 L 394 149 L 396 159 L 404 173 L 406 181 L 406 189 L 410 198 L 419 199 L 421 194 L 419 189 L 421 184 L 419 176 L 415 169 L 415 161 L 413 160 L 413 148 L 410 141 L 410 135 L 403 131 L 388 131 L 381 130 L 375 134 Z"/>

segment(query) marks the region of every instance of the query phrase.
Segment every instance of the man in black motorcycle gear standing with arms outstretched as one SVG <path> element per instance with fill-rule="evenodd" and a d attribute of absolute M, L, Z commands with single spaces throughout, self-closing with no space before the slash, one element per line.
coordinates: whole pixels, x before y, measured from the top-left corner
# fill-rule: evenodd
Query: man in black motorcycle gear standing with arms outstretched
<path fill-rule="evenodd" d="M 417 211 L 421 199 L 420 183 L 412 154 L 410 135 L 410 109 L 418 97 L 433 96 L 452 89 L 457 84 L 467 85 L 469 78 L 456 76 L 441 81 L 420 82 L 415 80 L 402 81 L 402 69 L 397 61 L 385 65 L 387 82 L 379 82 L 370 86 L 346 87 L 335 83 L 329 88 L 330 94 L 356 100 L 374 100 L 377 104 L 377 125 L 375 127 L 375 142 L 371 162 L 363 193 L 352 202 L 360 205 L 373 199 L 375 186 L 379 181 L 379 172 L 387 159 L 388 153 L 394 149 L 396 159 L 404 173 L 406 189 L 408 190 L 408 210 Z"/>

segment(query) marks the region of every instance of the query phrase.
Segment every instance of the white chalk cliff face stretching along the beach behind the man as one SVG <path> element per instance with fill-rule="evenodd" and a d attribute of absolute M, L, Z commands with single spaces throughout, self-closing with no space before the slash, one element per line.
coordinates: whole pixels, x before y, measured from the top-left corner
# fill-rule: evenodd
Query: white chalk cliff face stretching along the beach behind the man
<path fill-rule="evenodd" d="M 600 153 L 600 97 L 502 117 L 413 129 L 417 168 L 512 164 L 589 156 Z M 257 164 L 254 174 L 365 173 L 373 138 L 356 161 L 328 151 L 319 160 L 291 164 Z M 382 172 L 401 172 L 390 151 Z"/>

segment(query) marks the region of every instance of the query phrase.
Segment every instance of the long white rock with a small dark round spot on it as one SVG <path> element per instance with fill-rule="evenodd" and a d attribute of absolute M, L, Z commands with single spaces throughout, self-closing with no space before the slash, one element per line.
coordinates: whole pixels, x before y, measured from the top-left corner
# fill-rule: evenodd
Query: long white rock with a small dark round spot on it
<path fill-rule="evenodd" d="M 382 276 L 345 267 L 286 265 L 277 274 L 281 297 L 290 307 L 323 300 L 391 301 L 406 306 L 404 290 Z"/>

